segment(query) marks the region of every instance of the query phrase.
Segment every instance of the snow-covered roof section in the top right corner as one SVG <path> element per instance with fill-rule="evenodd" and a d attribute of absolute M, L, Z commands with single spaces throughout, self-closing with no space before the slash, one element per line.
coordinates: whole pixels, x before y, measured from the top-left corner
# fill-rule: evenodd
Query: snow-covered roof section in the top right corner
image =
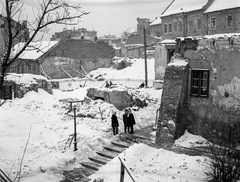
<path fill-rule="evenodd" d="M 204 13 L 240 7 L 239 0 L 214 0 Z"/>

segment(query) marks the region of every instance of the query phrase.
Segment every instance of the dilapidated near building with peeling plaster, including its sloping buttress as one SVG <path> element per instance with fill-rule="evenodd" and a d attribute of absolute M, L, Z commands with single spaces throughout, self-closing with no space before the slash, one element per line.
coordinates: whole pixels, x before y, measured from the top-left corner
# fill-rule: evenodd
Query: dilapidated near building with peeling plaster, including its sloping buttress
<path fill-rule="evenodd" d="M 167 65 L 156 143 L 171 146 L 185 130 L 229 141 L 240 121 L 240 34 L 176 41 Z"/>

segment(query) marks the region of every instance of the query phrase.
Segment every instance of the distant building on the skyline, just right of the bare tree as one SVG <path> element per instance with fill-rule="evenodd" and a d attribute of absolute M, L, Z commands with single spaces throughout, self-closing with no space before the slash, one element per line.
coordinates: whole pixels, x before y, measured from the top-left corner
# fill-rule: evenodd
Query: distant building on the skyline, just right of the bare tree
<path fill-rule="evenodd" d="M 88 40 L 95 40 L 97 39 L 97 31 L 89 31 L 85 28 L 79 28 L 72 30 L 67 30 L 66 28 L 63 29 L 62 32 L 57 32 L 51 37 L 51 41 L 54 40 L 66 40 L 66 39 L 88 39 Z"/>

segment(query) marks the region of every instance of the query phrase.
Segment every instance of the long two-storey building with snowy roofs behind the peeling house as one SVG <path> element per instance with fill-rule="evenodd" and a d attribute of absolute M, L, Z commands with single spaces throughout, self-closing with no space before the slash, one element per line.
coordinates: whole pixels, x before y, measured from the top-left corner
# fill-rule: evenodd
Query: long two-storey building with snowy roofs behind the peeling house
<path fill-rule="evenodd" d="M 224 0 L 172 1 L 161 15 L 163 40 L 240 32 L 240 2 L 227 4 Z"/>

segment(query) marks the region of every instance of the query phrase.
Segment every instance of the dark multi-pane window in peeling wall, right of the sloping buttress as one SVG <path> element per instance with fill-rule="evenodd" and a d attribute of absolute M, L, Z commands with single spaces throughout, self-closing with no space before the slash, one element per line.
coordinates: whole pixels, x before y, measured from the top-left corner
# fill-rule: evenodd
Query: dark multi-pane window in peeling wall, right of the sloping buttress
<path fill-rule="evenodd" d="M 192 70 L 191 95 L 208 97 L 209 70 Z"/>

